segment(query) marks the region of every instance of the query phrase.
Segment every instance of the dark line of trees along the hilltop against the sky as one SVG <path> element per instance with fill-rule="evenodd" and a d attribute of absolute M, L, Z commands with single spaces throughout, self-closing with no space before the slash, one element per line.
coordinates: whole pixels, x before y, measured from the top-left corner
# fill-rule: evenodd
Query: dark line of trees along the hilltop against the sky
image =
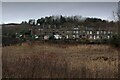
<path fill-rule="evenodd" d="M 36 22 L 34 19 L 30 19 L 28 22 L 23 21 L 22 23 L 28 23 L 32 25 L 56 25 L 59 26 L 68 26 L 71 25 L 84 25 L 84 26 L 92 26 L 92 27 L 103 27 L 103 26 L 114 26 L 115 23 L 113 21 L 102 20 L 100 18 L 89 18 L 89 17 L 82 17 L 82 16 L 49 16 L 49 17 L 42 17 L 37 19 Z"/>

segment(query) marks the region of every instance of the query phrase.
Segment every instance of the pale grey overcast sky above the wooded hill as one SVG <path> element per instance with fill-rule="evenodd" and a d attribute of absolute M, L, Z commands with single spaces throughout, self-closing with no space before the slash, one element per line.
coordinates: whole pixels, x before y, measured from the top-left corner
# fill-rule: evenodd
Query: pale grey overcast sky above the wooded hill
<path fill-rule="evenodd" d="M 3 2 L 2 22 L 22 22 L 51 15 L 113 19 L 117 2 Z"/>

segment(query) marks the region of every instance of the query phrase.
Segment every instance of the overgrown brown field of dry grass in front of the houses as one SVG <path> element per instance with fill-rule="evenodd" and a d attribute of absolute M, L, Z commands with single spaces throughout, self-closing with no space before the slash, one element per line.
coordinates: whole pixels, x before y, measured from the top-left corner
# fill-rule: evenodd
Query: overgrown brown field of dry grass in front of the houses
<path fill-rule="evenodd" d="M 107 45 L 37 43 L 2 49 L 3 78 L 117 78 L 118 50 Z"/>

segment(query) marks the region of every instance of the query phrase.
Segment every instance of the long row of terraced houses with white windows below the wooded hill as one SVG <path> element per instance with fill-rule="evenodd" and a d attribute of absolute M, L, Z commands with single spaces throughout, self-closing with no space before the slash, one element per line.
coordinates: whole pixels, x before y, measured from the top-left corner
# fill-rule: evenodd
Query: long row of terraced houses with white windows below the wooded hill
<path fill-rule="evenodd" d="M 70 28 L 61 27 L 61 28 L 51 28 L 51 25 L 47 28 L 37 27 L 35 29 L 36 34 L 41 39 L 48 39 L 51 36 L 54 36 L 54 39 L 66 39 L 66 40 L 81 40 L 88 39 L 93 40 L 103 40 L 110 39 L 114 34 L 117 34 L 114 27 L 91 27 L 91 26 L 72 26 Z"/>

